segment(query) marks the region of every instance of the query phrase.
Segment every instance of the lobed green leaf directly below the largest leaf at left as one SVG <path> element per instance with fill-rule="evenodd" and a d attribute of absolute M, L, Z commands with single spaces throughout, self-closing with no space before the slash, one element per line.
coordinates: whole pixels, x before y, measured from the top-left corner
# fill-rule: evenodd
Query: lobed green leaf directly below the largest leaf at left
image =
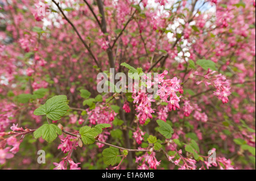
<path fill-rule="evenodd" d="M 52 142 L 56 139 L 57 134 L 62 134 L 62 131 L 54 124 L 44 124 L 42 127 L 36 129 L 33 134 L 36 139 L 42 137 L 44 140 Z"/>

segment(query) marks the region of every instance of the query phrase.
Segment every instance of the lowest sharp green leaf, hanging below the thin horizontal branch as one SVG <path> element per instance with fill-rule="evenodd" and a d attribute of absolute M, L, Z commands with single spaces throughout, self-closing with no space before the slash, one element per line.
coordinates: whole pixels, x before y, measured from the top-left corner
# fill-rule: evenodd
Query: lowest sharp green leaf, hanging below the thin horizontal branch
<path fill-rule="evenodd" d="M 119 149 L 110 146 L 109 148 L 102 151 L 103 160 L 106 165 L 114 166 L 120 159 Z"/>

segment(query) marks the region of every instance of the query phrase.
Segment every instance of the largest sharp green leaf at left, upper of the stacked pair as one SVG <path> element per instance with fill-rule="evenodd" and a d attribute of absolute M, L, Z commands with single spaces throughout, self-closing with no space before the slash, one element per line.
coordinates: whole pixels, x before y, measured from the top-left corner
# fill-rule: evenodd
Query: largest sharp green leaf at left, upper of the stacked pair
<path fill-rule="evenodd" d="M 67 96 L 65 95 L 54 96 L 53 98 L 48 99 L 43 106 L 37 108 L 34 111 L 34 115 L 46 115 L 53 121 L 60 120 L 69 110 L 67 100 Z"/>

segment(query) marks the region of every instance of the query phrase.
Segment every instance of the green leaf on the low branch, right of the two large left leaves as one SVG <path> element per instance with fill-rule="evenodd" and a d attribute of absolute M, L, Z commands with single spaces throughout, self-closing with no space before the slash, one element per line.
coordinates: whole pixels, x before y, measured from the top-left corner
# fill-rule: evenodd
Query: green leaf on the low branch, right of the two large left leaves
<path fill-rule="evenodd" d="M 79 133 L 81 134 L 82 142 L 84 142 L 85 145 L 93 144 L 95 142 L 94 137 L 98 135 L 96 128 L 88 126 L 80 128 Z"/>

